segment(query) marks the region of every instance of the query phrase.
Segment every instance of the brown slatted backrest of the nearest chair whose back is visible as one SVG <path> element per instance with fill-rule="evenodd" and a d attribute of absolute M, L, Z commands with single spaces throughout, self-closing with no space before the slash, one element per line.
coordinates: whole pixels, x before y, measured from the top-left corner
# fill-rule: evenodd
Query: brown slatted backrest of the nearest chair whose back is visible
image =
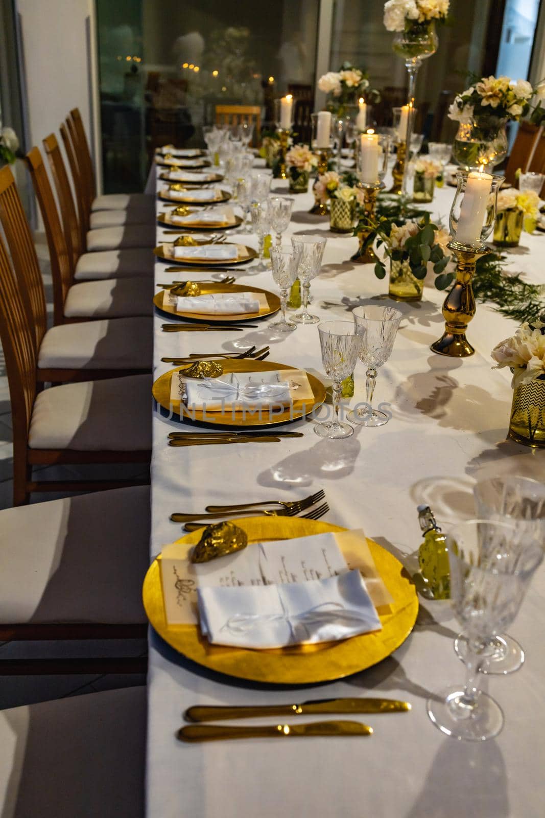
<path fill-rule="evenodd" d="M 6 247 L 0 239 L 0 341 L 6 360 L 11 398 L 14 461 L 26 457 L 30 419 L 36 397 L 37 352 L 34 332 L 14 275 Z"/>

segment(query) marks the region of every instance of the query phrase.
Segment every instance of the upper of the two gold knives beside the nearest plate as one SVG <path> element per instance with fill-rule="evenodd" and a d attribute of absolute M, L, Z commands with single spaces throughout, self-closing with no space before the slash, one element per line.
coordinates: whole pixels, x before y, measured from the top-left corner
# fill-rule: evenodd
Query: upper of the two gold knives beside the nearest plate
<path fill-rule="evenodd" d="M 409 702 L 397 699 L 315 699 L 301 704 L 261 704 L 256 707 L 195 705 L 185 711 L 187 721 L 219 721 L 225 718 L 257 716 L 306 716 L 312 713 L 390 713 L 411 709 Z"/>

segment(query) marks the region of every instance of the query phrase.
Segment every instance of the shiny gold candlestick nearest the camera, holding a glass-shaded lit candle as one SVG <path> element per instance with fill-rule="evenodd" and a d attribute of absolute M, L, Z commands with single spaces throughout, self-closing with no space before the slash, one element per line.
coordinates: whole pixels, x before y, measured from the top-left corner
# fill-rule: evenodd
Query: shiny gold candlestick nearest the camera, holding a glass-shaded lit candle
<path fill-rule="evenodd" d="M 445 322 L 444 333 L 435 344 L 431 344 L 431 351 L 449 357 L 469 357 L 475 352 L 466 338 L 467 325 L 476 313 L 471 279 L 475 275 L 478 259 L 492 251 L 485 245 L 475 247 L 462 245 L 458 241 L 449 241 L 447 246 L 457 258 L 456 281 L 441 310 Z"/>

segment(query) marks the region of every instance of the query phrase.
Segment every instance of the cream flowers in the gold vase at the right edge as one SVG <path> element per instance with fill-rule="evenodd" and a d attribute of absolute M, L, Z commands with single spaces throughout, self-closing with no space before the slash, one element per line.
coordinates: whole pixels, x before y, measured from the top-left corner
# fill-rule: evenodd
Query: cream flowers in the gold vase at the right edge
<path fill-rule="evenodd" d="M 536 321 L 525 321 L 504 341 L 496 344 L 492 357 L 497 366 L 503 369 L 509 366 L 513 373 L 511 386 L 515 389 L 521 384 L 533 380 L 545 380 L 545 321 L 542 317 Z"/>

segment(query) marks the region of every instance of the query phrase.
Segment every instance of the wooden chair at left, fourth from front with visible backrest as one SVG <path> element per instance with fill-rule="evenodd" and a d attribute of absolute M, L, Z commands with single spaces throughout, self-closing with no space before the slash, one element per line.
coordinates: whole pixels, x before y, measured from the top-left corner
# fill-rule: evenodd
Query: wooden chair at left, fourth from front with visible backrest
<path fill-rule="evenodd" d="M 60 126 L 60 134 L 65 143 L 73 178 L 77 178 L 79 173 L 78 165 L 65 125 Z M 127 248 L 103 250 L 102 252 L 95 251 L 94 253 L 85 252 L 87 238 L 85 224 L 89 214 L 83 207 L 83 199 L 79 197 L 77 197 L 78 213 L 76 213 L 65 160 L 60 153 L 60 146 L 55 135 L 50 133 L 43 140 L 43 146 L 60 205 L 65 241 L 72 248 L 74 279 L 76 281 L 96 281 L 98 279 L 123 278 L 125 276 L 151 278 L 154 272 L 154 255 L 148 249 Z"/>

